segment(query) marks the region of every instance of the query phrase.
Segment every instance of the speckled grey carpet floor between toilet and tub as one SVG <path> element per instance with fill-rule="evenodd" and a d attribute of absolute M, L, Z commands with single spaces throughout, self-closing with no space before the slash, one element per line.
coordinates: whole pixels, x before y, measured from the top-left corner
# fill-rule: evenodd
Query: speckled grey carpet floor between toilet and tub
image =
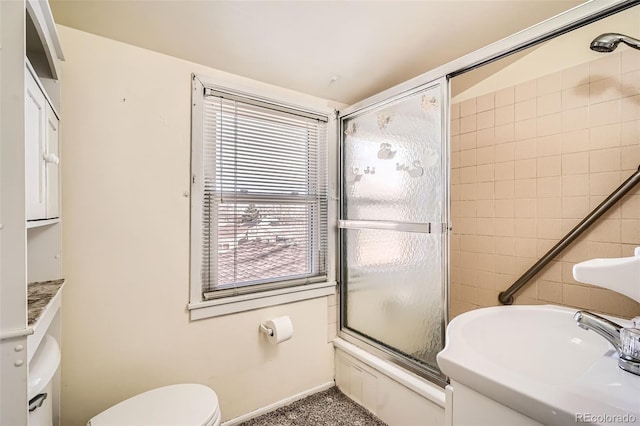
<path fill-rule="evenodd" d="M 278 408 L 240 426 L 386 426 L 337 387 Z"/>

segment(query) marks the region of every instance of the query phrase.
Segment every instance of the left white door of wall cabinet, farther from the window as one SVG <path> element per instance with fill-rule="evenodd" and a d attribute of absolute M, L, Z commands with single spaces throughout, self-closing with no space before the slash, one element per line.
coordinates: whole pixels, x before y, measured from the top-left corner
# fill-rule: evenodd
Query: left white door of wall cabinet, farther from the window
<path fill-rule="evenodd" d="M 25 198 L 27 220 L 46 216 L 45 123 L 47 101 L 28 70 L 25 70 Z"/>

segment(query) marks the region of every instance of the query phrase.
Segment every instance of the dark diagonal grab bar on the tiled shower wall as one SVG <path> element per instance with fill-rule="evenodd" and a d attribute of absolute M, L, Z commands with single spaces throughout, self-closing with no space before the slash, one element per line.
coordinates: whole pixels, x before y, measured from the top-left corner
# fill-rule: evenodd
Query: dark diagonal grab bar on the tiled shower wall
<path fill-rule="evenodd" d="M 638 166 L 638 170 L 627 180 L 625 180 L 622 185 L 620 185 L 615 191 L 613 191 L 602 203 L 598 205 L 595 209 L 591 211 L 579 224 L 577 224 L 571 231 L 567 233 L 567 235 L 562 238 L 558 244 L 553 246 L 551 250 L 549 250 L 544 256 L 540 258 L 527 272 L 522 274 L 520 278 L 516 282 L 514 282 L 511 287 L 507 290 L 501 292 L 498 295 L 498 300 L 503 305 L 512 305 L 513 304 L 513 295 L 516 294 L 522 287 L 524 287 L 531 278 L 533 278 L 538 272 L 540 272 L 547 264 L 562 250 L 564 250 L 569 244 L 571 244 L 576 238 L 580 236 L 587 228 L 589 228 L 596 220 L 600 218 L 603 214 L 607 212 L 615 203 L 620 201 L 622 197 L 624 197 L 629 191 L 633 189 L 636 184 L 640 182 L 640 166 Z"/>

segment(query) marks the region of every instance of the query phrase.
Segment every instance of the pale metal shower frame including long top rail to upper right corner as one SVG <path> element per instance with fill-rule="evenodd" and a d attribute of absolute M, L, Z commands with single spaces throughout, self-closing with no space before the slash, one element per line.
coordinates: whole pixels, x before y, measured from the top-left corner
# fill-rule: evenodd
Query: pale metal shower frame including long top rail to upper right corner
<path fill-rule="evenodd" d="M 445 269 L 443 270 L 443 276 L 445 277 L 445 289 L 444 289 L 444 298 L 445 305 L 443 306 L 443 323 L 444 327 L 448 324 L 448 311 L 449 311 L 449 282 L 450 282 L 450 269 L 448 265 L 449 259 L 449 237 L 450 232 L 452 230 L 451 218 L 450 218 L 450 170 L 449 170 L 449 158 L 450 158 L 450 120 L 449 120 L 449 107 L 451 101 L 451 78 L 463 74 L 467 71 L 471 71 L 475 68 L 478 68 L 482 65 L 488 64 L 490 62 L 496 61 L 498 59 L 509 56 L 513 53 L 519 52 L 521 50 L 527 49 L 529 47 L 535 46 L 537 44 L 543 43 L 545 41 L 551 40 L 557 36 L 560 36 L 564 33 L 582 27 L 584 25 L 588 25 L 592 22 L 598 21 L 607 16 L 613 15 L 615 13 L 621 12 L 628 8 L 639 6 L 640 2 L 638 0 L 590 0 L 587 3 L 583 3 L 578 5 L 564 13 L 561 13 L 555 17 L 547 19 L 543 22 L 540 22 L 530 28 L 527 28 L 523 31 L 515 33 L 507 38 L 504 38 L 500 41 L 497 41 L 493 44 L 490 44 L 484 48 L 478 49 L 472 53 L 469 53 L 465 56 L 462 56 L 456 60 L 453 60 L 449 63 L 446 63 L 440 67 L 437 67 L 431 71 L 428 71 L 418 77 L 405 81 L 397 86 L 394 86 L 390 89 L 384 90 L 370 98 L 367 98 L 361 102 L 358 102 L 343 111 L 340 111 L 338 115 L 338 143 L 339 143 L 339 159 L 338 159 L 338 182 L 340 184 L 339 188 L 339 215 L 342 218 L 343 214 L 343 129 L 342 122 L 344 118 L 348 118 L 349 116 L 354 116 L 357 113 L 361 114 L 366 111 L 378 108 L 390 102 L 396 101 L 404 96 L 409 96 L 411 94 L 416 93 L 421 89 L 425 89 L 429 87 L 429 85 L 433 85 L 435 82 L 440 82 L 442 88 L 442 107 L 444 110 L 442 111 L 442 120 L 443 120 L 443 145 L 446 146 L 447 152 L 443 153 L 443 158 L 446 154 L 446 171 L 444 171 L 444 175 L 446 176 L 445 184 L 447 187 L 445 188 L 444 193 L 446 194 L 446 204 L 443 206 L 446 211 L 446 222 L 447 227 L 446 230 L 443 230 L 443 236 L 446 237 L 446 248 L 444 249 L 443 258 L 446 259 L 447 264 L 445 264 Z M 444 161 L 444 160 L 443 160 Z M 339 239 L 338 239 L 338 276 L 340 277 L 339 282 L 339 295 L 340 295 L 340 329 L 338 331 L 338 336 L 350 343 L 353 343 L 356 346 L 359 346 L 365 350 L 370 351 L 374 355 L 381 357 L 391 363 L 399 365 L 421 377 L 426 378 L 427 380 L 432 381 L 440 386 L 446 386 L 447 377 L 442 373 L 434 374 L 430 370 L 427 370 L 425 366 L 410 360 L 407 357 L 404 357 L 389 348 L 378 344 L 377 342 L 371 341 L 370 339 L 362 336 L 361 334 L 348 330 L 344 324 L 345 317 L 345 303 L 343 300 L 345 294 L 345 284 L 343 279 L 343 267 L 342 267 L 342 255 L 343 255 L 343 247 L 342 247 L 342 231 L 339 231 Z M 445 340 L 443 342 L 446 344 L 446 333 Z"/>

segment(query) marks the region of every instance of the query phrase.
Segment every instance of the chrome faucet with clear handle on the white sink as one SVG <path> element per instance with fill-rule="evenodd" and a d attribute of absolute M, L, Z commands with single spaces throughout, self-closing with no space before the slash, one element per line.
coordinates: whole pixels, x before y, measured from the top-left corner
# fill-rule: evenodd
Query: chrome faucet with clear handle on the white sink
<path fill-rule="evenodd" d="M 598 333 L 616 348 L 618 367 L 640 376 L 640 317 L 632 320 L 633 327 L 622 327 L 588 311 L 576 312 L 573 319 L 578 327 Z"/>

